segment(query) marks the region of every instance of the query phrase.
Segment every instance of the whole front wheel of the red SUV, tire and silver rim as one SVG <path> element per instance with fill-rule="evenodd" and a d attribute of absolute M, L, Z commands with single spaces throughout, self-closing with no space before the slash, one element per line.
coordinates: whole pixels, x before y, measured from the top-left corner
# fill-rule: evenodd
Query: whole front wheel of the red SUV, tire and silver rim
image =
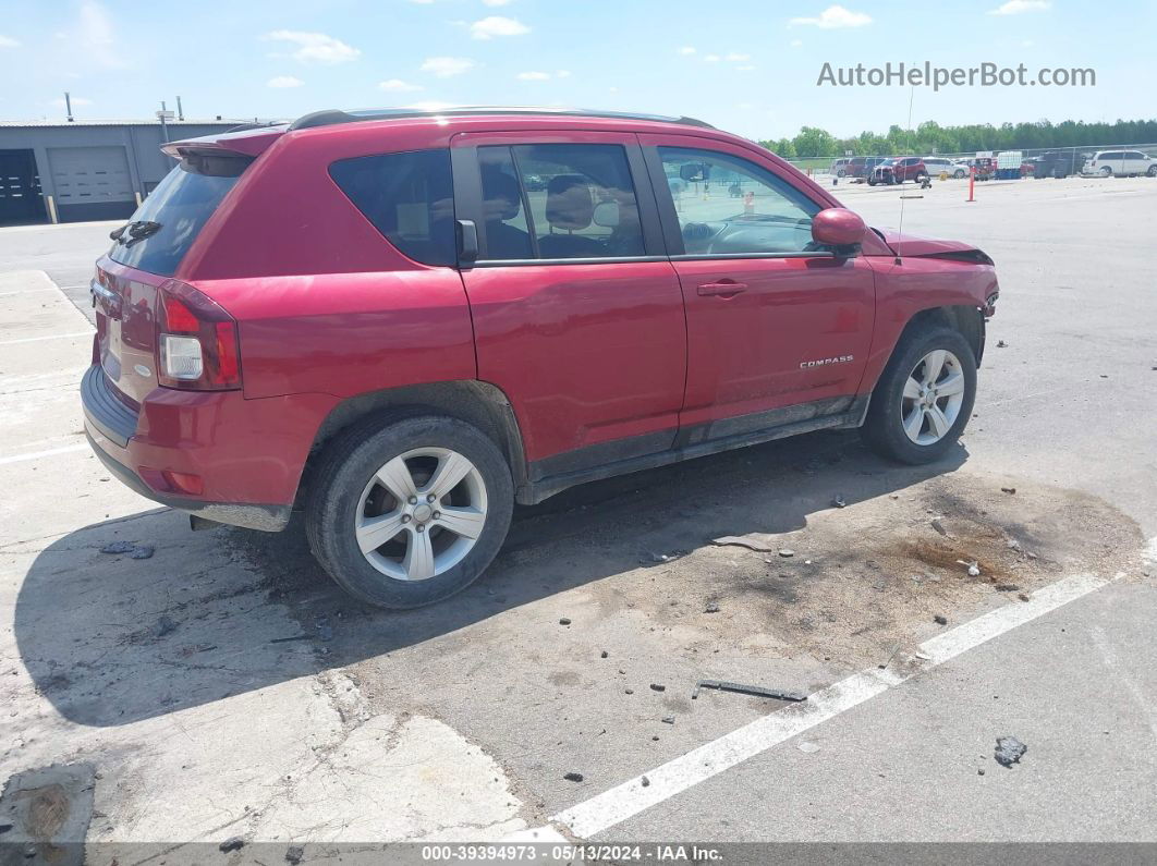
<path fill-rule="evenodd" d="M 968 341 L 953 328 L 922 328 L 897 346 L 861 434 L 884 457 L 931 462 L 959 438 L 975 399 L 977 360 Z"/>

